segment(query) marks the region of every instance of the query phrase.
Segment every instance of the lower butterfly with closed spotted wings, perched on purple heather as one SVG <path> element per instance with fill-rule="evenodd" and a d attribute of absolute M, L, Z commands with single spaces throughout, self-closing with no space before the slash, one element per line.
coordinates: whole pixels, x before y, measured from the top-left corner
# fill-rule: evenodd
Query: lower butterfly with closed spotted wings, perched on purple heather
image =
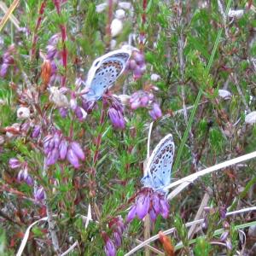
<path fill-rule="evenodd" d="M 166 193 L 165 188 L 171 183 L 174 150 L 172 134 L 160 140 L 149 157 L 146 173 L 141 180 L 144 187 Z"/>

